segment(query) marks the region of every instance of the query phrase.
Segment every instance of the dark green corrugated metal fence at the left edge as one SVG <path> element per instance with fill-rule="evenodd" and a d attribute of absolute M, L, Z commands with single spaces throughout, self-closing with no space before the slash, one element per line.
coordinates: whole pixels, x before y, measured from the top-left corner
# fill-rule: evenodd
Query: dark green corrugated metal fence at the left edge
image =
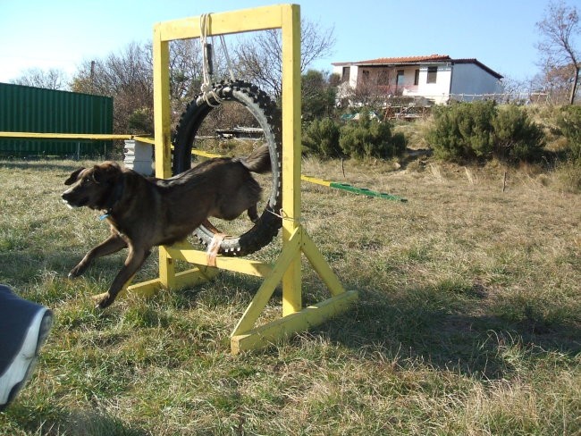
<path fill-rule="evenodd" d="M 0 83 L 0 131 L 113 133 L 113 97 Z M 4 156 L 105 155 L 111 140 L 0 138 Z"/>

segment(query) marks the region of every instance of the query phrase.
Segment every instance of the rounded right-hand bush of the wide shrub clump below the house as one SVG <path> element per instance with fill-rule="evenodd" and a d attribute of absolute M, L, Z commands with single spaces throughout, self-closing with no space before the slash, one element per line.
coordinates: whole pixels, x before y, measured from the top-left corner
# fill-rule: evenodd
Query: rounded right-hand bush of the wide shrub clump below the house
<path fill-rule="evenodd" d="M 535 161 L 543 152 L 543 130 L 516 105 L 498 108 L 492 122 L 493 155 L 502 161 Z"/>

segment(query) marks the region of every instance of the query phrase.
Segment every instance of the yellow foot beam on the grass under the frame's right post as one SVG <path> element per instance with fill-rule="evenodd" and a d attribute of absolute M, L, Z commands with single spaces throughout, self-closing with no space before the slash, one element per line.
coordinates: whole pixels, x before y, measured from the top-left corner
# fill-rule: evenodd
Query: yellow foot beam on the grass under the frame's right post
<path fill-rule="evenodd" d="M 256 348 L 264 348 L 279 340 L 288 338 L 297 331 L 306 331 L 328 321 L 329 318 L 345 312 L 358 298 L 357 290 L 349 290 L 333 298 L 328 298 L 314 306 L 290 314 L 271 323 L 261 325 L 247 334 L 231 338 L 232 354 Z"/>

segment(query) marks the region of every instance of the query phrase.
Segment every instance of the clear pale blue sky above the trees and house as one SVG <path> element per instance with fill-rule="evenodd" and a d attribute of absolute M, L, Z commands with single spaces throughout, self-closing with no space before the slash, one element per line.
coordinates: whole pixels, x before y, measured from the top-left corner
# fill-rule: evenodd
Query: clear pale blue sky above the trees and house
<path fill-rule="evenodd" d="M 569 5 L 579 0 L 568 0 Z M 535 22 L 548 0 L 305 0 L 301 15 L 334 28 L 333 55 L 313 65 L 408 55 L 476 58 L 514 80 L 539 71 Z M 76 71 L 158 21 L 276 4 L 261 0 L 0 0 L 0 81 L 29 68 Z M 578 5 L 578 4 L 577 4 Z"/>

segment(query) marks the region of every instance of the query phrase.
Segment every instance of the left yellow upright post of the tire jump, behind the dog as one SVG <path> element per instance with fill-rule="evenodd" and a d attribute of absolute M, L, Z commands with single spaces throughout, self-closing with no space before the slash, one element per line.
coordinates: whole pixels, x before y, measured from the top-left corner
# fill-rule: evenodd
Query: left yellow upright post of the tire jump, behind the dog
<path fill-rule="evenodd" d="M 167 179 L 172 175 L 169 43 L 162 40 L 159 26 L 154 29 L 153 52 L 156 177 Z M 173 259 L 164 247 L 159 247 L 159 281 L 164 288 L 171 288 L 175 282 Z"/>

